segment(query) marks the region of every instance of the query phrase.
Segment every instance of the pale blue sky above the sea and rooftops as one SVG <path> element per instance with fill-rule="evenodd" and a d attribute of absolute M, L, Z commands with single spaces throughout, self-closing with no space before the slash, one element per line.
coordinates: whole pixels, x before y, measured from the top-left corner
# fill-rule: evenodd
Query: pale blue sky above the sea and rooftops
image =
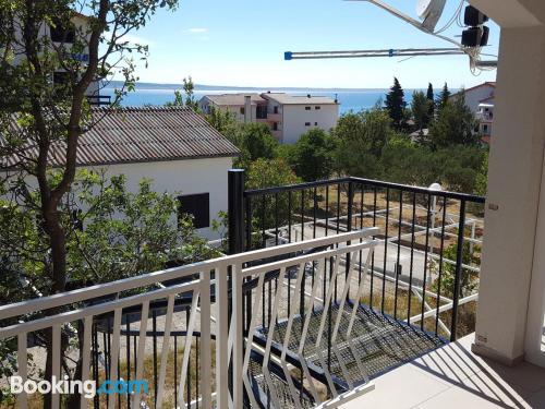
<path fill-rule="evenodd" d="M 386 0 L 416 17 L 416 0 Z M 460 0 L 447 0 L 437 27 Z M 493 22 L 486 52 L 496 55 L 499 28 Z M 447 31 L 460 35 L 457 24 Z M 474 76 L 465 56 L 293 60 L 284 51 L 450 47 L 365 1 L 342 0 L 180 0 L 161 10 L 131 40 L 149 46 L 142 82 L 256 87 L 385 88 L 397 76 L 405 88 L 470 87 L 494 81 L 496 72 Z M 459 39 L 459 38 L 458 38 Z"/>

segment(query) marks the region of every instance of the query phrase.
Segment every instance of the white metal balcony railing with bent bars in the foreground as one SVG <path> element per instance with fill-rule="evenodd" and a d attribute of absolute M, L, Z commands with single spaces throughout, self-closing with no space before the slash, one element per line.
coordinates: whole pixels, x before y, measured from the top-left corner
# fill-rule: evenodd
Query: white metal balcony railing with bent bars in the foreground
<path fill-rule="evenodd" d="M 119 387 L 118 381 L 124 382 L 119 394 L 90 397 L 95 407 L 211 408 L 213 399 L 218 408 L 242 408 L 244 401 L 258 407 L 264 389 L 274 407 L 283 407 L 279 385 L 293 407 L 302 399 L 312 407 L 336 407 L 373 388 L 364 371 L 354 382 L 353 375 L 329 368 L 324 348 L 332 349 L 342 372 L 351 365 L 344 360 L 353 349 L 350 334 L 360 303 L 348 300 L 359 300 L 365 286 L 365 280 L 354 285 L 351 272 L 356 265 L 367 270 L 377 232 L 372 228 L 263 249 L 3 305 L 0 342 L 16 346 L 11 356 L 23 383 L 69 376 L 96 383 L 100 392 L 105 383 Z M 272 282 L 274 316 L 267 326 L 258 325 L 266 320 L 262 297 L 266 291 L 271 297 Z M 334 291 L 346 302 L 334 302 Z M 316 316 L 319 328 L 312 327 Z M 332 320 L 328 329 L 326 316 Z M 275 323 L 283 328 L 282 338 Z M 312 340 L 317 361 L 293 347 L 301 329 L 301 345 Z M 310 334 L 316 329 L 324 334 L 318 339 Z M 147 394 L 131 390 L 141 381 Z M 69 397 L 50 397 L 52 408 L 68 405 Z M 39 399 L 25 392 L 16 396 L 21 408 Z M 83 393 L 76 399 L 82 408 L 90 404 Z"/>

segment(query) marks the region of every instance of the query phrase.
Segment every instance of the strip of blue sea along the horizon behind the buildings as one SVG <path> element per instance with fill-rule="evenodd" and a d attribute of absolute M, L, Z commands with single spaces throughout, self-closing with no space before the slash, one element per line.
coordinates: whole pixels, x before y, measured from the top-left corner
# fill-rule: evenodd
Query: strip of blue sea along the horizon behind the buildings
<path fill-rule="evenodd" d="M 102 95 L 113 95 L 114 86 L 105 87 L 101 91 Z M 162 106 L 174 100 L 174 91 L 179 89 L 180 85 L 173 84 L 149 84 L 142 83 L 136 85 L 134 92 L 129 93 L 123 97 L 121 103 L 124 107 L 144 107 L 144 106 Z M 210 94 L 238 94 L 238 93 L 266 93 L 267 91 L 275 93 L 287 93 L 292 95 L 328 96 L 337 98 L 340 103 L 340 113 L 350 111 L 359 112 L 374 107 L 376 104 L 383 104 L 388 89 L 382 88 L 254 88 L 254 87 L 225 87 L 211 85 L 196 85 L 194 91 L 195 99 L 201 99 L 204 95 Z M 414 89 L 405 89 L 405 100 L 410 104 Z"/>

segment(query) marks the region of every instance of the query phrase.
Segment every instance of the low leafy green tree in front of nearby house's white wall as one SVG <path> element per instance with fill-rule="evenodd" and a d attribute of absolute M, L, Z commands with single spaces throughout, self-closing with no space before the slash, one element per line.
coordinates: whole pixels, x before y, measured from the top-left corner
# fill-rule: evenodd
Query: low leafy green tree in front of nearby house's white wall
<path fill-rule="evenodd" d="M 8 304 L 49 294 L 51 288 L 49 243 L 39 219 L 40 209 L 21 206 L 13 188 L 3 188 L 7 194 L 0 200 L 0 303 Z M 178 206 L 173 195 L 154 192 L 150 180 L 141 181 L 137 192 L 130 193 L 123 176 L 108 179 L 104 172 L 78 171 L 58 208 L 62 228 L 70 231 L 66 268 L 71 287 L 109 282 L 162 269 L 167 263 L 182 265 L 216 255 L 206 240 L 196 234 L 192 218 L 178 215 Z M 34 335 L 38 346 L 48 346 L 47 332 Z M 80 342 L 76 371 L 66 373 L 77 380 L 83 340 L 78 334 L 63 332 L 63 337 L 69 338 L 68 345 Z M 0 345 L 2 365 L 14 350 L 16 346 Z M 61 350 L 63 365 L 73 358 L 73 353 Z M 74 405 L 78 406 L 77 396 L 71 395 L 69 407 Z"/>

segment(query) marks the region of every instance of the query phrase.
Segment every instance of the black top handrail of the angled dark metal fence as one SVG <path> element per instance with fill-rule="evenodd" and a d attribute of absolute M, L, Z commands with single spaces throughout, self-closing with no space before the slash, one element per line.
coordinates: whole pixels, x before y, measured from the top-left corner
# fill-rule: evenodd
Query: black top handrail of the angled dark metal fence
<path fill-rule="evenodd" d="M 447 197 L 447 199 L 456 199 L 465 202 L 473 203 L 485 203 L 484 196 L 479 196 L 475 194 L 469 193 L 459 193 L 459 192 L 450 192 L 450 191 L 436 191 L 428 188 L 423 187 L 412 187 L 408 184 L 392 183 L 392 182 L 384 182 L 380 180 L 365 179 L 365 178 L 356 178 L 356 177 L 346 177 L 346 178 L 337 178 L 337 179 L 326 179 L 326 180 L 317 180 L 314 182 L 305 182 L 305 183 L 296 183 L 296 184 L 287 184 L 283 187 L 272 187 L 272 188 L 264 188 L 264 189 L 251 189 L 244 192 L 245 197 L 262 195 L 262 194 L 275 194 L 282 193 L 288 191 L 296 191 L 308 188 L 318 188 L 325 185 L 332 185 L 339 183 L 349 183 L 356 182 L 359 184 L 366 184 L 377 188 L 389 188 L 393 190 L 403 190 L 413 193 L 423 193 L 423 194 L 432 194 L 434 196 Z"/>

